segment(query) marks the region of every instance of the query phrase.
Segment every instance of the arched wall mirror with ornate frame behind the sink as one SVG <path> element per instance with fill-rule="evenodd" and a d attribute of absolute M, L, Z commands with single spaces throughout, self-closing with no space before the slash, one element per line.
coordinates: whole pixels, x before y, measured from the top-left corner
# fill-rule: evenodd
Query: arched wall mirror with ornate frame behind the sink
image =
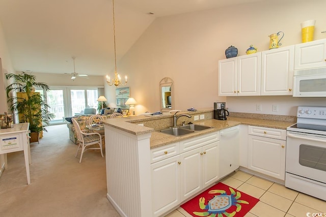
<path fill-rule="evenodd" d="M 162 111 L 170 111 L 174 108 L 173 97 L 173 80 L 171 78 L 163 78 L 159 82 L 160 106 Z"/>

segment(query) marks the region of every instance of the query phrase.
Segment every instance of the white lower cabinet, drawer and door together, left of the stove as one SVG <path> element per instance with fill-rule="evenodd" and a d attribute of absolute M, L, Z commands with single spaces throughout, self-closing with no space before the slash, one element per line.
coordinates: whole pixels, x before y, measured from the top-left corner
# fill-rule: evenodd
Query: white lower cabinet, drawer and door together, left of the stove
<path fill-rule="evenodd" d="M 285 180 L 285 130 L 249 126 L 248 145 L 249 169 Z"/>

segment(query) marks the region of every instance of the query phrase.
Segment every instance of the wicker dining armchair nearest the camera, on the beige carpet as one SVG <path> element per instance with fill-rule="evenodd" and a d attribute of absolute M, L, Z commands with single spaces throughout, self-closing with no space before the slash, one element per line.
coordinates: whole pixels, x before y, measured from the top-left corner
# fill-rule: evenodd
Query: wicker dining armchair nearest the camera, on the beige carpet
<path fill-rule="evenodd" d="M 80 130 L 80 127 L 78 125 L 78 122 L 75 120 L 75 118 L 71 118 L 73 127 L 75 129 L 75 133 L 77 135 L 77 139 L 79 141 L 78 148 L 75 154 L 75 157 L 77 157 L 78 151 L 82 150 L 80 153 L 80 159 L 79 163 L 82 162 L 83 154 L 86 150 L 89 149 L 99 149 L 101 150 L 102 158 L 103 152 L 102 152 L 102 137 L 99 133 L 87 133 L 88 130 Z M 98 144 L 99 147 L 88 147 L 90 145 Z"/>

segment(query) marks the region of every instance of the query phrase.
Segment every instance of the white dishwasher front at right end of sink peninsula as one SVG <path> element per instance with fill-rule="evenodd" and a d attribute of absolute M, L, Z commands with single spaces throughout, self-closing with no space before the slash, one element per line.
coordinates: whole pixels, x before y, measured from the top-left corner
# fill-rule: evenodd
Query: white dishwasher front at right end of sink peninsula
<path fill-rule="evenodd" d="M 220 131 L 220 178 L 239 168 L 240 126 Z"/>

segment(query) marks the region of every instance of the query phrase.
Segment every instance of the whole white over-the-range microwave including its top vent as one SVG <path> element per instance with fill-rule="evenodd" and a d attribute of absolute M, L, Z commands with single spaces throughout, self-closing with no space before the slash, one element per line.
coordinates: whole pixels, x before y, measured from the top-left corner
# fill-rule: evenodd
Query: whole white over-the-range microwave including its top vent
<path fill-rule="evenodd" d="M 326 68 L 294 71 L 293 97 L 326 97 Z"/>

